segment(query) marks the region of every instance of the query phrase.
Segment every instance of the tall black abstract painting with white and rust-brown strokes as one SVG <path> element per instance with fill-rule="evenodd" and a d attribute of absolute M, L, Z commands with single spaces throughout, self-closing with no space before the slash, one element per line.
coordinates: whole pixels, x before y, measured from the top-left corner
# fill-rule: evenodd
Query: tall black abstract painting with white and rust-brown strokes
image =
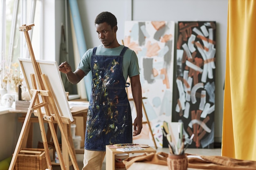
<path fill-rule="evenodd" d="M 176 102 L 173 121 L 183 123 L 190 148 L 213 148 L 216 22 L 178 22 Z"/>

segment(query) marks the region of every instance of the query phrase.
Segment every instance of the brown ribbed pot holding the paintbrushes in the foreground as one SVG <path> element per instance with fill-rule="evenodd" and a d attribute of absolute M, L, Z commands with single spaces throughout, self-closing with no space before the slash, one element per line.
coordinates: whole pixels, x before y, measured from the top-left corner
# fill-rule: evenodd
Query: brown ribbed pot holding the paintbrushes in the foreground
<path fill-rule="evenodd" d="M 169 170 L 187 170 L 188 159 L 186 155 L 172 155 L 167 157 L 167 165 Z"/>

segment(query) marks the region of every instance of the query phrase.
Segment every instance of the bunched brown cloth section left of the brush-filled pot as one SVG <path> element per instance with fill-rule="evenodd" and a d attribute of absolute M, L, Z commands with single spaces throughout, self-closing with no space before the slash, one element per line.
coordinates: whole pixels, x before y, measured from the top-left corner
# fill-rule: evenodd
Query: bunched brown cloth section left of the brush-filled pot
<path fill-rule="evenodd" d="M 126 169 L 128 169 L 132 165 L 132 163 L 139 161 L 167 166 L 167 157 L 168 154 L 164 152 L 144 153 L 143 155 L 128 157 L 123 161 L 123 163 Z"/>

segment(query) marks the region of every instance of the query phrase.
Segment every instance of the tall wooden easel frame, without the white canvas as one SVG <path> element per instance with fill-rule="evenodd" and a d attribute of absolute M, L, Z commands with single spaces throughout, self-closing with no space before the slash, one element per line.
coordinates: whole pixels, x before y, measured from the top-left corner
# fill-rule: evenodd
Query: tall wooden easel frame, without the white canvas
<path fill-rule="evenodd" d="M 31 61 L 32 61 L 32 64 L 34 67 L 35 75 L 34 74 L 31 75 L 32 86 L 33 86 L 33 89 L 29 89 L 31 103 L 29 105 L 27 115 L 25 117 L 25 121 L 22 126 L 18 142 L 17 142 L 16 148 L 14 150 L 13 157 L 11 159 L 11 164 L 9 166 L 9 170 L 14 169 L 19 151 L 25 147 L 24 141 L 26 141 L 26 140 L 23 141 L 23 139 L 28 136 L 29 126 L 30 126 L 29 121 L 30 121 L 31 113 L 33 111 L 34 111 L 34 114 L 36 113 L 37 117 L 38 117 L 38 122 L 40 125 L 41 136 L 43 139 L 43 146 L 44 146 L 44 150 L 45 150 L 48 169 L 52 170 L 52 163 L 51 163 L 51 159 L 50 159 L 50 155 L 49 155 L 49 148 L 48 148 L 48 144 L 47 144 L 47 135 L 46 135 L 44 124 L 43 124 L 44 121 L 47 121 L 47 123 L 49 125 L 49 129 L 52 134 L 52 139 L 54 141 L 54 146 L 56 148 L 56 152 L 58 154 L 58 158 L 60 161 L 61 170 L 66 170 L 66 168 L 69 169 L 70 165 L 69 165 L 68 155 L 70 156 L 74 170 L 79 170 L 79 167 L 76 162 L 74 147 L 73 147 L 73 145 L 71 146 L 71 144 L 70 144 L 70 142 L 72 143 L 72 137 L 70 139 L 70 137 L 69 137 L 70 135 L 68 135 L 68 130 L 67 130 L 67 124 L 70 124 L 71 121 L 70 121 L 70 119 L 61 117 L 60 114 L 58 113 L 58 109 L 56 107 L 54 97 L 52 96 L 49 82 L 47 82 L 47 79 L 46 79 L 46 75 L 41 73 L 40 67 L 38 66 L 38 64 L 36 62 L 34 52 L 33 52 L 32 46 L 31 46 L 31 41 L 29 38 L 29 33 L 28 33 L 28 31 L 31 30 L 32 26 L 34 26 L 34 24 L 30 24 L 28 26 L 27 25 L 20 26 L 20 31 L 23 31 L 25 34 L 25 38 L 27 41 L 27 45 L 28 45 L 30 56 L 31 56 Z M 24 68 L 22 68 L 22 69 L 24 71 Z M 35 79 L 35 76 L 36 76 L 36 79 Z M 36 82 L 36 80 L 37 80 L 37 82 Z M 26 79 L 26 83 L 28 84 L 27 79 Z M 38 85 L 39 89 L 37 89 L 36 85 Z M 40 99 L 43 102 L 40 102 Z M 45 108 L 45 113 L 42 113 L 42 110 L 41 110 L 42 107 Z M 61 131 L 61 135 L 62 135 L 63 145 L 66 146 L 65 150 L 63 150 L 63 154 L 61 154 L 61 148 L 58 143 L 56 130 L 54 128 L 54 123 L 58 124 L 58 127 L 59 127 L 59 129 Z M 64 152 L 68 152 L 68 155 L 64 154 Z M 65 163 L 66 163 L 66 165 L 65 165 Z"/>

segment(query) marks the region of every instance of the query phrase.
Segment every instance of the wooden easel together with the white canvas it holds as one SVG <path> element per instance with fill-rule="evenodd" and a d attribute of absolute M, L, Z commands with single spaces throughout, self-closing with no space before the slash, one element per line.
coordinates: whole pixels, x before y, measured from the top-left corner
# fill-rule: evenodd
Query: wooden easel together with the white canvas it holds
<path fill-rule="evenodd" d="M 20 26 L 20 31 L 24 32 L 31 57 L 31 60 L 20 59 L 22 72 L 30 92 L 29 94 L 31 97 L 31 102 L 27 110 L 24 124 L 22 125 L 20 136 L 14 150 L 13 157 L 11 159 L 9 170 L 14 169 L 16 160 L 18 158 L 18 153 L 21 148 L 24 148 L 25 146 L 23 139 L 28 136 L 31 122 L 30 117 L 33 111 L 34 114 L 37 113 L 48 169 L 52 170 L 52 163 L 49 154 L 44 121 L 47 121 L 49 125 L 52 139 L 54 141 L 54 146 L 60 161 L 61 169 L 69 170 L 70 156 L 74 169 L 79 170 L 76 162 L 74 146 L 71 145 L 73 144 L 72 136 L 68 132 L 68 124 L 73 121 L 73 117 L 67 102 L 67 96 L 65 95 L 61 76 L 58 72 L 58 66 L 56 62 L 41 60 L 36 61 L 28 33 L 32 26 L 34 26 L 34 24 L 30 24 L 28 26 L 24 24 Z M 43 110 L 45 110 L 45 112 L 43 112 Z M 54 123 L 58 124 L 59 130 L 61 131 L 61 139 L 63 141 L 62 152 L 58 142 L 55 130 L 56 127 L 54 126 Z"/>

